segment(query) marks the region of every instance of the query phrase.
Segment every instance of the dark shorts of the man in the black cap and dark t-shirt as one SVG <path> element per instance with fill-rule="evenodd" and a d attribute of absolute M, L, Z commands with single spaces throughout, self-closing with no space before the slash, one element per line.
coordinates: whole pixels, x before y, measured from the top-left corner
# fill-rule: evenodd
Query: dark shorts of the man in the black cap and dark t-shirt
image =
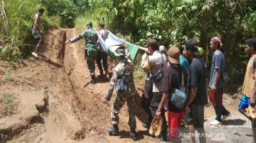
<path fill-rule="evenodd" d="M 194 125 L 195 128 L 203 128 L 204 122 L 204 105 L 191 104 L 187 108 L 187 114 L 184 119 Z"/>

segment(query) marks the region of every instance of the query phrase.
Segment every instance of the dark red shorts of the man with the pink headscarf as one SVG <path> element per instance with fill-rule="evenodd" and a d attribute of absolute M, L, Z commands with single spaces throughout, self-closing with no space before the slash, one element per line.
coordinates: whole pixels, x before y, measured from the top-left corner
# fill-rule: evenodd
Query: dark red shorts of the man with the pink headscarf
<path fill-rule="evenodd" d="M 221 106 L 222 105 L 222 95 L 223 95 L 223 88 L 217 89 L 215 93 L 210 91 L 209 100 L 213 106 Z"/>

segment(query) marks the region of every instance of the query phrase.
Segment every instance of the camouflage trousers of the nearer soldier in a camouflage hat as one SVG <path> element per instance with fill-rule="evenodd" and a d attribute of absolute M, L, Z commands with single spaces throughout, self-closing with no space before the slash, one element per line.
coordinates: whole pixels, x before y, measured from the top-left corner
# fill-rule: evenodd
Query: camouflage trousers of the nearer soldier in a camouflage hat
<path fill-rule="evenodd" d="M 135 118 L 135 108 L 136 108 L 136 95 L 131 93 L 118 93 L 114 97 L 114 101 L 111 105 L 111 120 L 112 124 L 119 123 L 118 113 L 127 101 L 128 111 L 129 111 L 129 122 L 128 125 L 130 129 L 136 129 L 136 118 Z"/>

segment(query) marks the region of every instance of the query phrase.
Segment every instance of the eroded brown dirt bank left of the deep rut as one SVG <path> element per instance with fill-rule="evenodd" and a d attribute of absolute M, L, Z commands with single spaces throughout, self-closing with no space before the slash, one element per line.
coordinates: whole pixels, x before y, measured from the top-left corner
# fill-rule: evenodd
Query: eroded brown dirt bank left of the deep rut
<path fill-rule="evenodd" d="M 65 30 L 49 32 L 40 49 L 42 60 L 31 57 L 25 60 L 26 65 L 10 68 L 12 80 L 1 76 L 0 95 L 11 93 L 13 101 L 6 105 L 0 101 L 0 142 L 30 142 L 36 138 L 59 142 L 85 137 L 85 129 L 71 106 L 76 105 L 76 100 L 62 61 L 65 39 Z M 0 67 L 1 71 L 9 70 Z M 9 106 L 12 111 L 8 111 Z M 57 136 L 65 138 L 56 140 Z"/>

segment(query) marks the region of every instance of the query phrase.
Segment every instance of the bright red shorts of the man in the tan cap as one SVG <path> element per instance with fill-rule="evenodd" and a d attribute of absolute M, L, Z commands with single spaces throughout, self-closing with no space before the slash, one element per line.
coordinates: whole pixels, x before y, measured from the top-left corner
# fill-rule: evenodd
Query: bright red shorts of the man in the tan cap
<path fill-rule="evenodd" d="M 178 129 L 180 127 L 180 123 L 182 123 L 184 112 L 175 113 L 167 110 L 167 114 L 169 136 L 178 138 Z"/>

